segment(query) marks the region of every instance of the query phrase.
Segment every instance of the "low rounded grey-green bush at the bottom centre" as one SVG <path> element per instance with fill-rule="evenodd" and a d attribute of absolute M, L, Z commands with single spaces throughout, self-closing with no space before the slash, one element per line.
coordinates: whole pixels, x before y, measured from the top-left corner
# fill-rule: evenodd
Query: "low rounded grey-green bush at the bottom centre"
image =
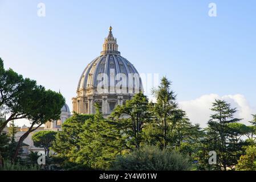
<path fill-rule="evenodd" d="M 189 158 L 166 148 L 144 146 L 132 154 L 118 156 L 113 170 L 124 171 L 185 171 L 191 167 Z"/>

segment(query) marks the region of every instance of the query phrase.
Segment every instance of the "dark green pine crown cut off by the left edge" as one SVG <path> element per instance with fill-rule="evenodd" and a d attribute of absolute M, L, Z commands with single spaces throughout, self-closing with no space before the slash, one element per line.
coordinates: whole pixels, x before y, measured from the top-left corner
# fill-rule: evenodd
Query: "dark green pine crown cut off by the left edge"
<path fill-rule="evenodd" d="M 31 110 L 29 90 L 36 87 L 36 81 L 24 79 L 12 69 L 3 69 L 1 60 L 0 68 L 0 109 L 1 114 L 9 114 L 10 117 L 5 122 L 1 122 L 0 132 L 7 123 L 14 119 L 28 118 Z"/>

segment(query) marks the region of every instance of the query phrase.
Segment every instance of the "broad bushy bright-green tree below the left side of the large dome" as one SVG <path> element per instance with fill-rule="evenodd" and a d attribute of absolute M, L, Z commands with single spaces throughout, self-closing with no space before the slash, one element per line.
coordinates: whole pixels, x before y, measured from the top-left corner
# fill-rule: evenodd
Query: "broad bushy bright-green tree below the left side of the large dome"
<path fill-rule="evenodd" d="M 107 169 L 123 151 L 120 134 L 103 118 L 98 105 L 96 114 L 74 114 L 62 129 L 52 148 L 64 159 L 65 169 Z"/>

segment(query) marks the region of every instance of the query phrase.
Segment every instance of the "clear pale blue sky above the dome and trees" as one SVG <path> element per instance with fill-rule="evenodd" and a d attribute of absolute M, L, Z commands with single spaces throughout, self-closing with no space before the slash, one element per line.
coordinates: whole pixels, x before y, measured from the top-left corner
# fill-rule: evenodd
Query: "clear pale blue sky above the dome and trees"
<path fill-rule="evenodd" d="M 40 2 L 46 17 L 37 16 Z M 217 17 L 208 16 L 212 2 Z M 0 0 L 0 57 L 6 68 L 60 89 L 72 107 L 79 77 L 111 24 L 121 55 L 140 73 L 172 80 L 178 101 L 239 94 L 255 111 L 255 6 L 253 0 Z"/>

